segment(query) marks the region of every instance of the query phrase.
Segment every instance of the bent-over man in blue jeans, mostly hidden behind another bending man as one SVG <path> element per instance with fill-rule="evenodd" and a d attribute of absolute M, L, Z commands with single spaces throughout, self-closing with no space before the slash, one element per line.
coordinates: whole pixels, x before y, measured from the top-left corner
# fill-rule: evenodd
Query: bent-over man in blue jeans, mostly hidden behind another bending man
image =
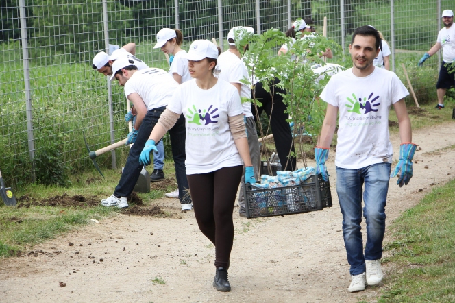
<path fill-rule="evenodd" d="M 138 70 L 142 69 L 148 69 L 149 66 L 145 64 L 142 60 L 136 58 L 134 56 L 136 54 L 136 44 L 131 42 L 128 43 L 127 45 L 123 45 L 120 49 L 116 49 L 115 51 L 112 52 L 112 54 L 109 56 L 107 53 L 104 51 L 100 51 L 97 53 L 95 58 L 93 58 L 93 65 L 92 68 L 96 69 L 99 73 L 102 73 L 103 75 L 106 76 L 112 76 L 112 64 L 115 62 L 115 60 L 125 57 L 128 58 L 132 61 L 134 61 L 134 66 L 138 68 Z M 128 108 L 128 113 L 125 115 L 125 121 L 131 121 L 133 117 L 136 115 L 136 111 L 134 108 L 130 110 Z M 134 120 L 133 120 L 134 123 Z M 156 146 L 158 149 L 157 152 L 153 153 L 153 172 L 150 175 L 150 180 L 151 182 L 157 182 L 160 180 L 164 180 L 164 144 L 162 141 L 158 143 Z"/>

